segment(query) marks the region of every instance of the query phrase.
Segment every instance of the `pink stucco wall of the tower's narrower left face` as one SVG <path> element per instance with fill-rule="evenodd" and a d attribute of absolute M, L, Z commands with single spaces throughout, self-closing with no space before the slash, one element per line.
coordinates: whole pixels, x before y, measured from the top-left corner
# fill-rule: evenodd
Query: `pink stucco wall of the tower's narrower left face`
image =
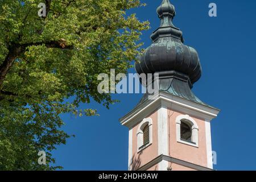
<path fill-rule="evenodd" d="M 144 148 L 141 152 L 137 150 L 137 130 L 139 123 L 133 127 L 133 163 L 131 164 L 131 169 L 136 170 L 144 164 L 147 164 L 151 160 L 155 159 L 158 156 L 158 112 L 154 111 L 150 115 L 147 115 L 145 118 L 152 119 L 152 144 L 147 148 Z"/>

